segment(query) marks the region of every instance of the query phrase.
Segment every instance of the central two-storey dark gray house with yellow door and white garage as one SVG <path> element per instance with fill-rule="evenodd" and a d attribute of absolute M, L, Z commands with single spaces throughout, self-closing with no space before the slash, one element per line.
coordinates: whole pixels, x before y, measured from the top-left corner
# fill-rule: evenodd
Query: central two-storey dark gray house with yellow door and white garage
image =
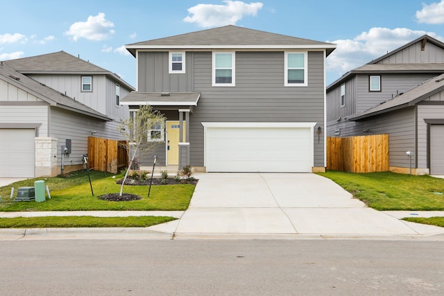
<path fill-rule="evenodd" d="M 129 44 L 137 92 L 121 104 L 167 117 L 148 134 L 165 142 L 160 166 L 325 171 L 325 58 L 335 47 L 237 26 Z"/>

